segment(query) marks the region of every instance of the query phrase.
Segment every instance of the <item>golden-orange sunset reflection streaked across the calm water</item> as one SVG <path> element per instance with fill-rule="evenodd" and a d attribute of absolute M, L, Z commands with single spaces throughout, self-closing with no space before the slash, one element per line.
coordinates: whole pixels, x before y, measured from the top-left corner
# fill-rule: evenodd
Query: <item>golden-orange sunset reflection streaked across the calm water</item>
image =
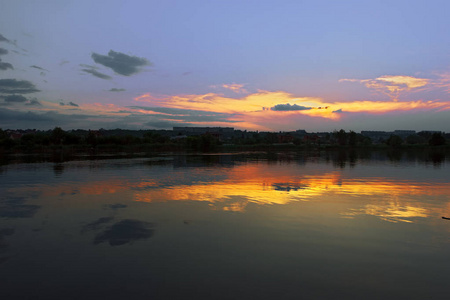
<path fill-rule="evenodd" d="M 317 168 L 316 168 L 317 166 Z M 249 204 L 287 205 L 311 201 L 317 204 L 345 202 L 335 211 L 343 218 L 376 216 L 390 222 L 415 222 L 418 218 L 450 215 L 448 182 L 370 176 L 367 172 L 343 172 L 323 164 L 237 163 L 232 167 L 173 168 L 170 164 L 110 178 L 65 181 L 61 184 L 28 185 L 42 197 L 126 194 L 136 202 L 204 202 L 213 210 L 244 213 Z M 405 170 L 408 172 L 408 170 Z M 131 176 L 130 176 L 131 175 Z M 401 174 L 400 174 L 401 175 Z M 24 187 L 20 187 L 23 191 Z M 14 194 L 19 188 L 10 188 Z M 439 204 L 427 201 L 439 198 Z"/>

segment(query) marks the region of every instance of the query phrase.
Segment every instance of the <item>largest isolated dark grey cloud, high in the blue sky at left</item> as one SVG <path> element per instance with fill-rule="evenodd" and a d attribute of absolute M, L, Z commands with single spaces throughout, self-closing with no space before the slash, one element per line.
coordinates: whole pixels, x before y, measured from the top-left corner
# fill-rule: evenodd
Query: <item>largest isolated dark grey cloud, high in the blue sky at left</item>
<path fill-rule="evenodd" d="M 92 53 L 92 59 L 105 67 L 112 69 L 115 73 L 130 76 L 140 72 L 140 67 L 150 65 L 150 62 L 142 57 L 130 56 L 124 53 L 110 50 L 108 55 Z"/>

